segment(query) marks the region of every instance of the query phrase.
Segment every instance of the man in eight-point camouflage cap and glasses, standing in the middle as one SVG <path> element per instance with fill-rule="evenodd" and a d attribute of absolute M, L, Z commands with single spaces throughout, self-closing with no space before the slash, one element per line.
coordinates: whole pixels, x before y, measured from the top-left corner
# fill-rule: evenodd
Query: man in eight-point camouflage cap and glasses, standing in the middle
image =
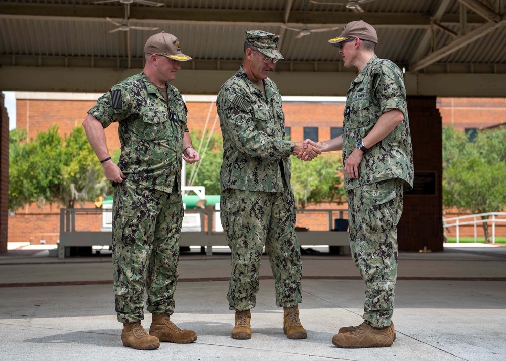
<path fill-rule="evenodd" d="M 244 64 L 222 85 L 216 101 L 223 134 L 221 219 L 232 251 L 227 299 L 235 310 L 232 338 L 251 338 L 251 312 L 259 289 L 265 244 L 275 280 L 276 305 L 284 308 L 284 333 L 306 338 L 299 320 L 302 263 L 295 233 L 290 155 L 304 142 L 285 140 L 281 95 L 267 77 L 278 59 L 279 35 L 246 31 Z M 309 158 L 317 155 L 312 146 Z"/>

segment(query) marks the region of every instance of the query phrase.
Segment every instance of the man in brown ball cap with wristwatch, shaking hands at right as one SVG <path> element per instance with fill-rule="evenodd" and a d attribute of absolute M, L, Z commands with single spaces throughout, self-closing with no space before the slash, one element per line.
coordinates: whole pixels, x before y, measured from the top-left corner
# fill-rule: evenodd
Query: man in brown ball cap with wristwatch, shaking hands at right
<path fill-rule="evenodd" d="M 340 48 L 345 67 L 358 76 L 346 96 L 343 135 L 309 142 L 322 152 L 343 150 L 348 196 L 350 247 L 367 291 L 364 322 L 342 327 L 332 338 L 338 347 L 387 347 L 395 340 L 392 313 L 397 278 L 397 230 L 402 193 L 413 185 L 413 151 L 402 72 L 378 59 L 374 28 L 347 24 L 330 43 Z M 303 154 L 302 154 L 303 155 Z"/>

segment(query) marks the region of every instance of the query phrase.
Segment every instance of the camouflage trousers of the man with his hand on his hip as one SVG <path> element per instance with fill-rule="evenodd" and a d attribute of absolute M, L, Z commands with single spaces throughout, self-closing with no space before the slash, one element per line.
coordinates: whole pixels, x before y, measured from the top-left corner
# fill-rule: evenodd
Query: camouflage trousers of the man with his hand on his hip
<path fill-rule="evenodd" d="M 112 261 L 115 309 L 119 322 L 144 318 L 144 290 L 151 313 L 174 312 L 179 234 L 183 204 L 178 182 L 173 193 L 129 179 L 113 198 Z"/>

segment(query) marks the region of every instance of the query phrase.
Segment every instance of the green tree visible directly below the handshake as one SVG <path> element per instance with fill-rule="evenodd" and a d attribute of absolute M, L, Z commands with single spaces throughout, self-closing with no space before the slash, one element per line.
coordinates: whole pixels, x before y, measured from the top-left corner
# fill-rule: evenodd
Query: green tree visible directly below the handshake
<path fill-rule="evenodd" d="M 339 155 L 325 153 L 311 162 L 291 159 L 291 187 L 299 208 L 305 208 L 309 203 L 342 204 L 346 200 L 338 173 L 338 168 L 342 168 Z"/>

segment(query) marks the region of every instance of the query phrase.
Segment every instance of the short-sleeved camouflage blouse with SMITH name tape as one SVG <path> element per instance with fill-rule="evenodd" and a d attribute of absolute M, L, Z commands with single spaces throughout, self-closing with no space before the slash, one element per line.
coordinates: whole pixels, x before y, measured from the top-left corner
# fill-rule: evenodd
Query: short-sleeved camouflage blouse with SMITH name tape
<path fill-rule="evenodd" d="M 88 111 L 106 128 L 119 122 L 119 168 L 127 179 L 172 192 L 180 182 L 188 110 L 178 89 L 166 84 L 169 102 L 144 74 L 114 85 Z"/>

